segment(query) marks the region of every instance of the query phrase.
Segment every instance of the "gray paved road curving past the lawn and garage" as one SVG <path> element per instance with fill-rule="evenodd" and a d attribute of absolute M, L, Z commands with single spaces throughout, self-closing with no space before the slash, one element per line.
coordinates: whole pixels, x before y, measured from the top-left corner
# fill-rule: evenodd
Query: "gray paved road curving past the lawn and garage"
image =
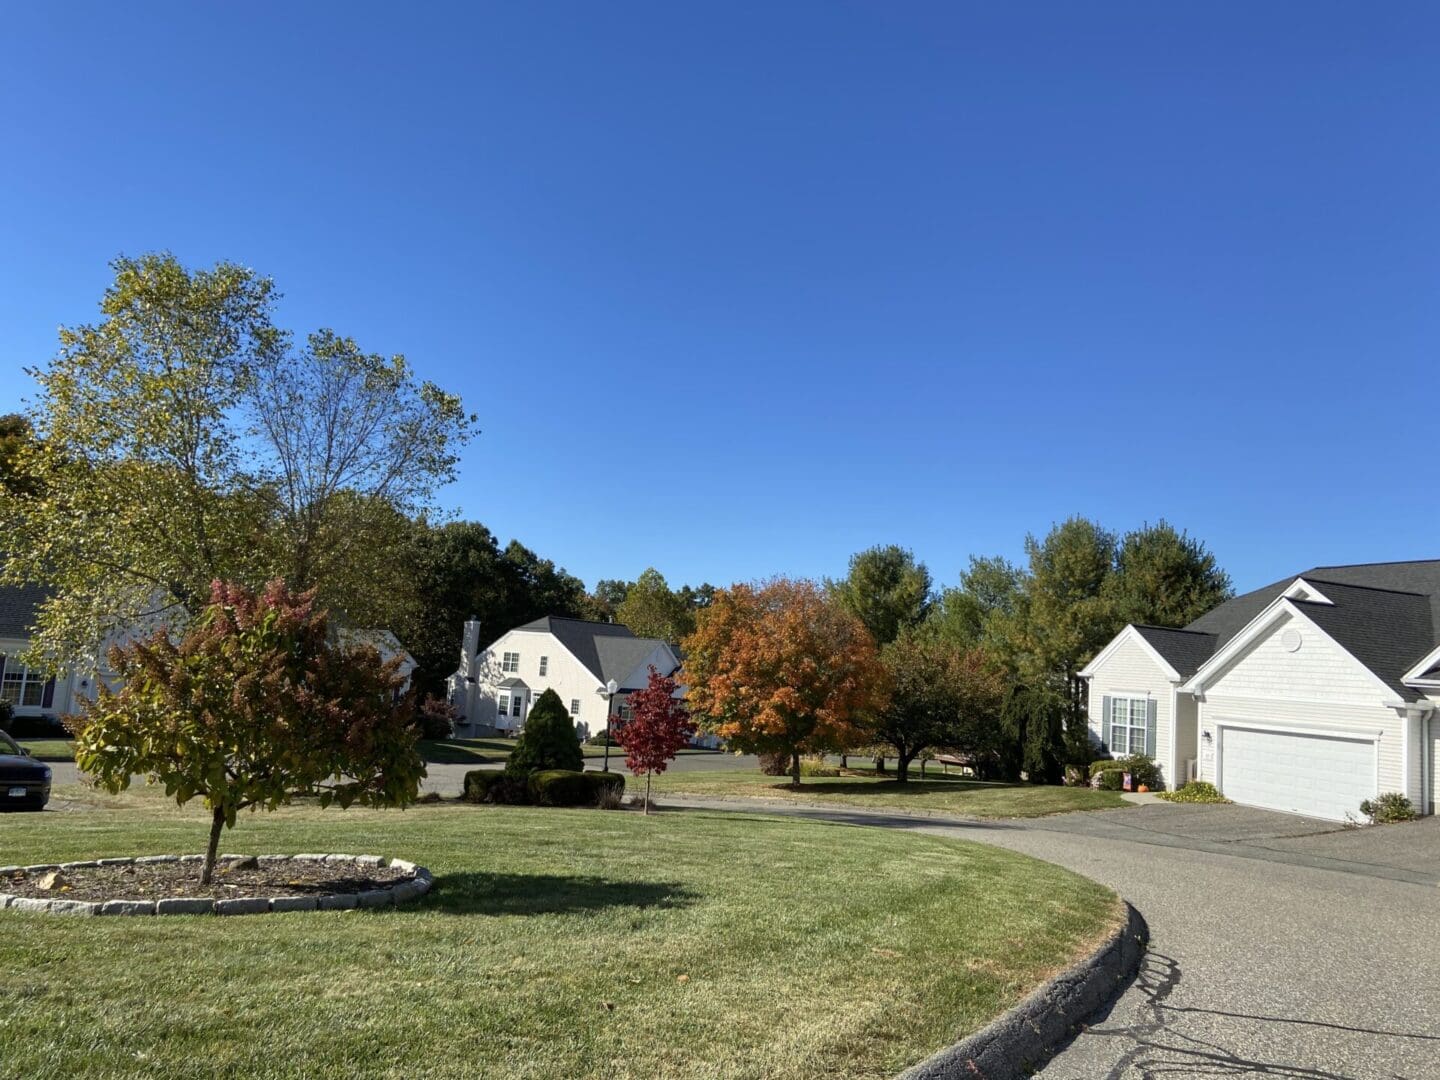
<path fill-rule="evenodd" d="M 737 809 L 736 802 L 665 799 Z M 1440 821 L 1336 831 L 1240 806 L 959 822 L 770 805 L 1022 851 L 1146 917 L 1139 978 L 1040 1076 L 1440 1077 Z"/>

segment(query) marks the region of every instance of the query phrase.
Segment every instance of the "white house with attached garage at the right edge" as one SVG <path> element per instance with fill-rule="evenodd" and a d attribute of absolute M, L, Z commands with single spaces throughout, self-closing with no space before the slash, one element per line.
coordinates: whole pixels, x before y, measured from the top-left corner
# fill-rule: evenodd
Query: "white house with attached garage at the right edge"
<path fill-rule="evenodd" d="M 1440 798 L 1440 560 L 1318 566 L 1184 629 L 1126 626 L 1080 677 L 1092 742 L 1171 786 L 1335 821 Z"/>

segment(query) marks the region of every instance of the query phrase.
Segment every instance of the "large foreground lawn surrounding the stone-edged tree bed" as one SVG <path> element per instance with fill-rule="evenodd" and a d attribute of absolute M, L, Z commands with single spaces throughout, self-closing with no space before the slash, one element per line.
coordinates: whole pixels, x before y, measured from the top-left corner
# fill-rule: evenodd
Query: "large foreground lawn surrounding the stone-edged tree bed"
<path fill-rule="evenodd" d="M 0 819 L 4 860 L 203 842 L 199 809 L 78 798 Z M 0 912 L 0 1071 L 891 1077 L 1119 920 L 1102 886 L 996 848 L 752 815 L 288 808 L 223 848 L 393 854 L 436 888 L 389 912 Z"/>

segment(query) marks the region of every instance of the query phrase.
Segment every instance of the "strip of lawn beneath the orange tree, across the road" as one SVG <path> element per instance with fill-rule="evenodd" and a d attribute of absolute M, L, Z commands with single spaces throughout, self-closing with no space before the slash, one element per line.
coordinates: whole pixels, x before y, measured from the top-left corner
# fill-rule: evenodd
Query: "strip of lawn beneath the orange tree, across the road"
<path fill-rule="evenodd" d="M 912 773 L 914 778 L 916 773 Z M 969 818 L 1038 818 L 1086 809 L 1115 809 L 1129 804 L 1113 791 L 1061 788 L 1031 783 L 989 783 L 937 779 L 897 783 L 891 778 L 861 773 L 838 778 L 804 778 L 799 789 L 779 776 L 755 769 L 716 772 L 668 772 L 655 778 L 655 791 L 665 795 L 719 795 L 786 799 L 876 809 L 909 809 L 958 814 Z"/>

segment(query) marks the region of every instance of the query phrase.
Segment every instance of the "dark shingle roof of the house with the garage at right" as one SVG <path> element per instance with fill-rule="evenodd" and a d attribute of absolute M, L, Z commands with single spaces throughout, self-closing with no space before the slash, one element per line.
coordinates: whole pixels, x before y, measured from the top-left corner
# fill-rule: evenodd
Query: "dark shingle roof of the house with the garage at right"
<path fill-rule="evenodd" d="M 1440 641 L 1440 559 L 1313 566 L 1221 603 L 1185 626 L 1185 631 L 1212 635 L 1214 652 L 1270 606 L 1296 577 L 1310 582 L 1333 602 L 1296 602 L 1320 629 L 1405 700 L 1418 697 L 1400 677 Z M 1178 649 L 1182 658 L 1192 658 L 1197 648 L 1194 644 L 1176 645 L 1178 639 L 1169 638 L 1166 647 L 1162 647 L 1159 641 L 1152 641 L 1149 632 L 1140 632 L 1182 675 L 1192 674 L 1200 667 L 1195 664 L 1195 668 L 1187 671 L 1166 651 Z"/>

